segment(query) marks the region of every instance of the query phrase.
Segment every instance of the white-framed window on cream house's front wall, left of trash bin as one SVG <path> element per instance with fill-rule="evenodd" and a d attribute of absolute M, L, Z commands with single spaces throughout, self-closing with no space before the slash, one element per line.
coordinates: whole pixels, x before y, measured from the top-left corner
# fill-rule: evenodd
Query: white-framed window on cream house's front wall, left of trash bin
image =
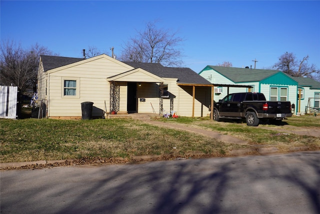
<path fill-rule="evenodd" d="M 63 98 L 79 98 L 79 78 L 62 77 L 62 93 Z"/>

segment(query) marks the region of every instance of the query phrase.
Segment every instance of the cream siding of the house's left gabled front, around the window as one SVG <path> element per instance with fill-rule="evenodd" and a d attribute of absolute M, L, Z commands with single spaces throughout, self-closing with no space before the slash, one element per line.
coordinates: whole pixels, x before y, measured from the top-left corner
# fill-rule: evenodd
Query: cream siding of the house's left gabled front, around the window
<path fill-rule="evenodd" d="M 127 68 L 109 62 L 105 58 L 100 58 L 60 71 L 48 72 L 47 75 L 50 79 L 48 117 L 80 117 L 80 103 L 86 101 L 93 102 L 92 116 L 101 115 L 105 107 L 106 111 L 108 111 L 110 84 L 106 81 L 106 78 L 125 71 L 127 71 Z M 76 92 L 79 93 L 79 97 L 63 97 L 62 78 L 72 79 L 74 77 L 79 79 L 79 88 Z M 125 110 L 121 108 L 120 111 L 126 111 L 126 86 L 120 87 L 120 96 L 120 106 L 122 107 L 125 104 Z"/>

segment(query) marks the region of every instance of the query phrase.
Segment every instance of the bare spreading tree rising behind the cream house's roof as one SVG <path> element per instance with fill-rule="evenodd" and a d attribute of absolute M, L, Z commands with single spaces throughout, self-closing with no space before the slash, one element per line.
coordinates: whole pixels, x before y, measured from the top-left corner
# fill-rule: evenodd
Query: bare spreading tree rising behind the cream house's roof
<path fill-rule="evenodd" d="M 181 51 L 177 48 L 183 41 L 177 33 L 157 29 L 155 22 L 146 24 L 143 32 L 138 32 L 125 44 L 121 61 L 161 63 L 163 66 L 180 66 Z"/>

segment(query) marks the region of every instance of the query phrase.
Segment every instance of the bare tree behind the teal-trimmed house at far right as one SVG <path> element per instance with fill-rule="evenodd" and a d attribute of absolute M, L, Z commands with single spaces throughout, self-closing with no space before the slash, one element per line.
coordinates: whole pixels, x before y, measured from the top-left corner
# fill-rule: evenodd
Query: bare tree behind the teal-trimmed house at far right
<path fill-rule="evenodd" d="M 279 57 L 279 61 L 274 64 L 273 68 L 278 69 L 293 77 L 310 77 L 319 79 L 320 70 L 314 64 L 308 65 L 309 56 L 305 56 L 298 61 L 293 53 L 285 52 Z"/>

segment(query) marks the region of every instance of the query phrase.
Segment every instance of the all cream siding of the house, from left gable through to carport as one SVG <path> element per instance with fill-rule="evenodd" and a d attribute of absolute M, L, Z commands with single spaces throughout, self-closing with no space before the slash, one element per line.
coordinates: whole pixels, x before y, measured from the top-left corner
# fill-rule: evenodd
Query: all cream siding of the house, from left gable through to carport
<path fill-rule="evenodd" d="M 119 86 L 119 113 L 127 112 L 128 82 L 141 83 L 137 87 L 137 112 L 159 112 L 159 83 L 168 85 L 173 111 L 181 116 L 192 115 L 192 87 L 181 88 L 177 78 L 161 78 L 141 68 L 133 68 L 106 55 L 100 55 L 43 72 L 40 62 L 38 70 L 38 93 L 47 101 L 49 118 L 80 118 L 81 103 L 93 102 L 92 116 L 109 113 L 110 82 Z M 45 96 L 45 80 L 47 95 Z M 76 80 L 75 96 L 64 96 L 64 80 Z M 210 103 L 210 87 L 196 87 L 194 116 L 206 116 Z M 139 98 L 145 98 L 140 102 Z M 153 106 L 153 109 L 151 107 Z M 170 99 L 163 98 L 163 111 L 170 112 Z"/>

